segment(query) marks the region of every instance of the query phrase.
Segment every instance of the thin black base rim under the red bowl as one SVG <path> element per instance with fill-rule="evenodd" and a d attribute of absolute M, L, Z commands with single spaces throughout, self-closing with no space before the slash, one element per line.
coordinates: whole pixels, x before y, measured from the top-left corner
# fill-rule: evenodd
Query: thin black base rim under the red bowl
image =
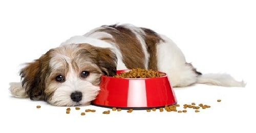
<path fill-rule="evenodd" d="M 92 105 L 95 105 L 97 107 L 103 107 L 103 108 L 109 108 L 109 109 L 112 109 L 112 108 L 116 108 L 116 109 L 122 109 L 122 110 L 130 110 L 130 109 L 133 109 L 133 110 L 151 110 L 153 108 L 156 108 L 156 109 L 159 109 L 159 108 L 164 108 L 166 105 L 164 106 L 159 106 L 159 107 L 114 107 L 114 106 L 106 106 L 106 105 L 98 105 L 98 104 L 95 104 L 95 103 L 91 103 Z M 169 105 L 175 105 L 177 104 L 174 103 L 174 104 L 168 104 Z"/>

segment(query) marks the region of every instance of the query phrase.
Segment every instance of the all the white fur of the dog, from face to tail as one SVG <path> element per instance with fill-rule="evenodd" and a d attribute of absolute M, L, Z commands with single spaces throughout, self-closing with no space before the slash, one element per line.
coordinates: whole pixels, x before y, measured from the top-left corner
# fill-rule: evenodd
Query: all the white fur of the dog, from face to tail
<path fill-rule="evenodd" d="M 145 60 L 143 62 L 145 68 L 147 68 L 150 54 L 147 52 L 147 45 L 144 41 L 145 33 L 140 28 L 137 28 L 131 24 L 125 24 L 123 26 L 130 29 L 131 32 L 136 35 L 135 39 L 139 40 L 143 50 L 143 54 L 145 56 Z M 112 35 L 105 32 L 97 31 L 102 30 L 106 27 L 111 28 L 106 25 L 100 28 L 93 29 L 92 31 L 88 32 L 83 36 L 71 37 L 65 42 L 62 42 L 60 46 L 66 48 L 73 48 L 73 50 L 75 51 L 78 50 L 76 49 L 76 45 L 70 44 L 89 43 L 98 47 L 110 48 L 117 57 L 117 69 L 127 69 L 127 67 L 123 63 L 122 53 L 118 45 L 116 45 L 113 41 Z M 157 67 L 159 71 L 167 73 L 170 84 L 173 87 L 186 87 L 195 83 L 225 87 L 245 87 L 246 84 L 243 81 L 236 81 L 229 74 L 196 74 L 193 66 L 186 63 L 185 56 L 181 49 L 168 37 L 164 35 L 159 36 L 164 41 L 160 41 L 156 47 Z M 108 41 L 104 41 L 101 39 L 105 39 Z M 96 81 L 97 78 L 100 78 L 100 75 L 96 73 L 90 73 L 90 75 L 86 79 L 81 79 L 81 77 L 78 76 L 79 73 L 76 73 L 72 66 L 72 59 L 70 59 L 70 57 L 73 58 L 72 52 L 69 53 L 71 55 L 66 56 L 65 48 L 60 50 L 63 51 L 59 51 L 56 52 L 56 54 L 53 54 L 53 58 L 51 58 L 50 60 L 50 67 L 53 70 L 62 70 L 62 68 L 65 69 L 65 67 L 67 67 L 66 65 L 68 64 L 69 71 L 66 71 L 67 75 L 65 75 L 65 82 L 48 85 L 48 90 L 54 90 L 53 96 L 48 102 L 59 106 L 90 104 L 90 101 L 95 99 L 98 91 L 100 90 L 99 87 L 93 85 L 92 82 Z M 89 63 L 90 62 L 88 62 L 88 64 Z M 79 64 L 77 65 L 79 67 Z M 93 67 L 97 68 L 97 65 Z M 28 97 L 21 83 L 10 83 L 9 90 L 11 94 L 15 97 Z M 82 93 L 82 99 L 79 102 L 75 102 L 70 98 L 71 93 L 76 91 Z"/>

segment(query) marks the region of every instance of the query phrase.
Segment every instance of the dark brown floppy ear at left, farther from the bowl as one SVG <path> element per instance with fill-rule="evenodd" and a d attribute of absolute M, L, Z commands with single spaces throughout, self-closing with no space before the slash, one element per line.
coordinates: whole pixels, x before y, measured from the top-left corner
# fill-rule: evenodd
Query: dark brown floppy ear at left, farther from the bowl
<path fill-rule="evenodd" d="M 19 74 L 22 77 L 22 86 L 25 88 L 31 100 L 38 100 L 44 95 L 45 80 L 49 71 L 50 56 L 48 55 L 49 51 L 39 59 L 27 63 L 20 70 Z"/>

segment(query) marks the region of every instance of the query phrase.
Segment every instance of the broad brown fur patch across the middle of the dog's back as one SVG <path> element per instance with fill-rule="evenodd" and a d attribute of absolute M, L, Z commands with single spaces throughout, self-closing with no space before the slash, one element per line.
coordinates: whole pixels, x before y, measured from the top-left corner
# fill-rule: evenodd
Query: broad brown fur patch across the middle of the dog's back
<path fill-rule="evenodd" d="M 145 68 L 142 46 L 131 30 L 122 25 L 110 25 L 96 32 L 106 32 L 113 36 L 122 53 L 123 62 L 128 69 Z M 109 39 L 105 40 L 110 41 Z M 111 42 L 113 41 L 111 40 Z"/>

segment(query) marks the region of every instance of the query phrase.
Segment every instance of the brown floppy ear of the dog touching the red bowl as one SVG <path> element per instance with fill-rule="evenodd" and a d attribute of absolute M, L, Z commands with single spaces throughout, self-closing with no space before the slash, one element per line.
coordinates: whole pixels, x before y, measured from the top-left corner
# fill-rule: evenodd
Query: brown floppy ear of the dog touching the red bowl
<path fill-rule="evenodd" d="M 96 59 L 104 75 L 116 75 L 117 57 L 110 48 L 96 48 Z"/>

